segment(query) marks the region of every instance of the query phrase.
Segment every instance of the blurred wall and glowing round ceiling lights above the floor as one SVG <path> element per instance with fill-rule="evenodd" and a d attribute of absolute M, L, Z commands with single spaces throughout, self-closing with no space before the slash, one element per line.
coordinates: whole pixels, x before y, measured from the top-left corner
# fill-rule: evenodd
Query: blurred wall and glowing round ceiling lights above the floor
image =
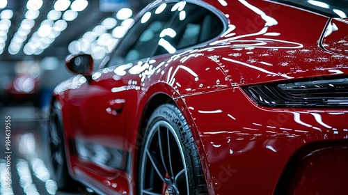
<path fill-rule="evenodd" d="M 0 105 L 46 109 L 68 54 L 101 61 L 149 0 L 0 0 Z"/>

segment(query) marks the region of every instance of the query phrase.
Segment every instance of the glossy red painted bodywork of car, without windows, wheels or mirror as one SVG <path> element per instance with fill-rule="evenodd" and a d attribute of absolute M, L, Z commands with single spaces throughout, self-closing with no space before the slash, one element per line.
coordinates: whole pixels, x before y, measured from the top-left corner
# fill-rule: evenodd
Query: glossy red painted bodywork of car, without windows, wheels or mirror
<path fill-rule="evenodd" d="M 139 132 L 173 100 L 209 194 L 347 194 L 347 105 L 267 107 L 244 87 L 347 78 L 348 20 L 274 1 L 199 3 L 223 18 L 219 38 L 57 86 L 71 176 L 100 193 L 136 194 Z M 94 159 L 81 157 L 86 145 Z M 120 169 L 102 162 L 107 148 L 120 152 Z"/>

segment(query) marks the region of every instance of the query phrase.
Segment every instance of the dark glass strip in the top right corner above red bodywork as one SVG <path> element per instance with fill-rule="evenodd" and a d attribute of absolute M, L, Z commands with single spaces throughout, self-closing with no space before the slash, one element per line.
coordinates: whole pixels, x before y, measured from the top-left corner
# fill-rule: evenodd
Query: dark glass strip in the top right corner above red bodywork
<path fill-rule="evenodd" d="M 296 6 L 329 17 L 348 15 L 348 0 L 275 0 L 288 5 Z"/>

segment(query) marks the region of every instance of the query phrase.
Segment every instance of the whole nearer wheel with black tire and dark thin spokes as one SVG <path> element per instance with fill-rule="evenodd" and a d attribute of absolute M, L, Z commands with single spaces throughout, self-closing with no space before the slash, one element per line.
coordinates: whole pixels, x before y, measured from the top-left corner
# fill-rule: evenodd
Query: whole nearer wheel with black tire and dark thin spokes
<path fill-rule="evenodd" d="M 144 133 L 139 194 L 207 194 L 196 143 L 180 109 L 155 109 Z"/>

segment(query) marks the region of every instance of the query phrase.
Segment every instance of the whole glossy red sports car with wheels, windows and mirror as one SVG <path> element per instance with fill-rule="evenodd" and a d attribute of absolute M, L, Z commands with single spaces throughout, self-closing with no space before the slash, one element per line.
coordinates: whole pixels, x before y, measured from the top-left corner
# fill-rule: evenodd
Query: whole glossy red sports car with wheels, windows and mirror
<path fill-rule="evenodd" d="M 347 1 L 155 1 L 52 98 L 58 187 L 348 194 Z"/>

